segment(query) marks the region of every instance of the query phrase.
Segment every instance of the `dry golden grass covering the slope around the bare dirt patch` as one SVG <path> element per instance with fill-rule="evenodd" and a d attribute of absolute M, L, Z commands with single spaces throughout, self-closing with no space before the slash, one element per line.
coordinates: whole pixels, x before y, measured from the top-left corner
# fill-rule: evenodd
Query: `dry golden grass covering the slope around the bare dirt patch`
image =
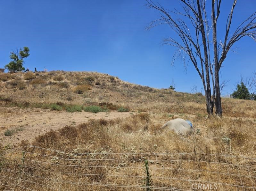
<path fill-rule="evenodd" d="M 16 78 L 22 77 L 24 74 L 12 75 L 12 78 Z M 59 82 L 51 81 L 52 76 L 62 76 L 65 80 L 64 83 L 66 83 L 65 87 L 59 86 Z M 12 113 L 14 112 L 12 111 L 13 106 L 21 107 L 13 103 L 27 101 L 29 102 L 28 107 L 42 102 L 45 104 L 56 103 L 57 105 L 96 105 L 109 110 L 124 107 L 129 108 L 131 116 L 126 119 L 91 120 L 88 123 L 69 125 L 37 136 L 35 140 L 21 142 L 21 146 L 17 147 L 19 152 L 5 154 L 6 158 L 1 157 L 0 164 L 4 164 L 3 168 L 5 169 L 22 172 L 3 171 L 4 174 L 11 174 L 12 178 L 21 179 L 22 177 L 24 180 L 31 181 L 20 181 L 19 184 L 23 187 L 56 191 L 60 189 L 121 190 L 120 187 L 89 186 L 84 185 L 84 183 L 115 185 L 136 183 L 144 185 L 143 178 L 127 177 L 128 175 L 145 176 L 143 163 L 139 161 L 139 158 L 148 157 L 148 155 L 142 155 L 142 153 L 171 153 L 173 154 L 172 159 L 177 159 L 175 162 L 161 162 L 161 164 L 160 162 L 159 164 L 156 163 L 157 158 L 152 159 L 155 160 L 153 164 L 150 164 L 153 176 L 166 176 L 171 179 L 170 182 L 170 180 L 153 178 L 155 186 L 169 187 L 172 185 L 174 188 L 190 190 L 191 184 L 199 180 L 224 183 L 224 185 L 218 185 L 218 190 L 242 189 L 242 187 L 232 187 L 225 184 L 241 184 L 249 187 L 252 184 L 255 185 L 255 178 L 253 178 L 256 171 L 255 101 L 223 98 L 223 118 L 208 118 L 204 97 L 199 94 L 174 92 L 169 89 L 159 90 L 130 84 L 117 77 L 97 72 L 52 71 L 40 73 L 37 77 L 36 79 L 43 79 L 47 84 L 40 87 L 33 87 L 28 84 L 26 90 L 14 92 L 14 88 L 6 87 L 12 81 L 11 79 L 2 82 L 4 88 L 0 90 L 0 112 Z M 88 85 L 88 79 L 95 79 L 99 85 L 94 87 Z M 78 82 L 85 84 L 77 85 Z M 86 93 L 78 94 L 74 91 L 76 88 L 80 90 L 81 87 L 85 88 Z M 161 96 L 159 96 L 160 94 Z M 159 131 L 162 124 L 175 118 L 192 121 L 194 125 L 193 135 L 182 137 L 171 131 Z M 230 143 L 223 141 L 224 137 L 231 138 Z M 21 150 L 27 145 L 64 151 L 65 153 L 73 153 L 73 155 L 67 156 L 53 151 L 29 148 L 24 151 L 37 154 L 27 153 L 24 157 Z M 3 152 L 8 151 L 3 148 L 2 150 Z M 80 152 L 89 154 L 86 156 L 79 155 Z M 77 157 L 74 157 L 74 153 L 77 154 Z M 116 158 L 118 159 L 112 162 L 93 160 L 100 159 L 103 153 L 108 153 L 110 158 L 113 158 L 111 153 L 117 153 Z M 140 157 L 128 155 L 125 158 L 125 155 L 118 155 L 118 153 L 134 153 Z M 95 157 L 90 158 L 94 155 Z M 18 159 L 13 158 L 13 156 L 17 156 Z M 51 161 L 54 156 L 65 160 L 60 159 L 54 163 Z M 97 156 L 99 157 L 97 158 Z M 23 160 L 22 157 L 25 159 Z M 166 157 L 165 160 L 170 160 L 170 155 L 166 155 Z M 88 158 L 90 160 L 85 160 Z M 77 165 L 76 167 L 70 165 L 73 159 L 76 161 L 74 163 Z M 160 159 L 163 158 L 160 157 Z M 79 160 L 81 163 L 78 163 Z M 122 164 L 122 161 L 125 161 L 126 164 Z M 26 167 L 21 168 L 22 165 Z M 124 165 L 123 168 L 122 165 Z M 108 168 L 108 166 L 114 168 Z M 245 168 L 244 166 L 248 167 Z M 168 171 L 168 168 L 172 168 L 172 170 Z M 209 173 L 210 171 L 218 171 L 219 174 Z M 251 178 L 246 176 L 248 171 L 251 173 Z M 89 175 L 82 176 L 81 173 Z M 227 175 L 238 173 L 244 176 Z M 16 183 L 13 179 L 3 179 L 4 184 L 7 184 L 8 181 Z M 79 184 L 70 184 L 70 181 L 79 182 Z M 5 187 L 0 186 L 0 189 L 3 190 Z M 251 188 L 246 189 L 252 190 Z M 15 187 L 14 190 L 18 190 L 18 187 Z M 143 189 L 130 187 L 123 188 L 123 190 Z"/>

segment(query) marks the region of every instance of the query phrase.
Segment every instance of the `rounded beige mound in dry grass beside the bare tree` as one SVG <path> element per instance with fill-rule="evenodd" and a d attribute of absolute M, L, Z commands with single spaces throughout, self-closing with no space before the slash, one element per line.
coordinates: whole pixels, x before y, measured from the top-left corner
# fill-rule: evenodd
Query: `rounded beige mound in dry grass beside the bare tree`
<path fill-rule="evenodd" d="M 168 121 L 161 127 L 161 129 L 174 130 L 177 134 L 184 136 L 193 132 L 190 125 L 184 119 L 179 118 Z"/>

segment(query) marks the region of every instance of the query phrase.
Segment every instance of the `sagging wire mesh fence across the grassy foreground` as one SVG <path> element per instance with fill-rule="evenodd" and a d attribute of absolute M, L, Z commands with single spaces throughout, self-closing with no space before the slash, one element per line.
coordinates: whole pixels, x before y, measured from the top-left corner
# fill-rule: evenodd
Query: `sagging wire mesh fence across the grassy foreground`
<path fill-rule="evenodd" d="M 64 152 L 37 146 L 27 146 L 16 157 L 0 156 L 0 190 L 256 190 L 255 158 Z M 145 184 L 146 160 L 150 163 L 150 187 Z"/>

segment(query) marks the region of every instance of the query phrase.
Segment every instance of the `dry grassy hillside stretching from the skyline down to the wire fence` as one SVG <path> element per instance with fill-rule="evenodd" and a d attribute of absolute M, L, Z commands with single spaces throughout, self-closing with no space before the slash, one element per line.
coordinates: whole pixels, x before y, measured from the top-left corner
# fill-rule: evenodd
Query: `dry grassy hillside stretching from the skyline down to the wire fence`
<path fill-rule="evenodd" d="M 255 101 L 223 98 L 217 119 L 207 117 L 200 94 L 97 72 L 8 73 L 0 81 L 0 190 L 143 190 L 147 159 L 154 190 L 190 190 L 200 182 L 217 183 L 218 190 L 255 188 Z M 28 121 L 65 117 L 47 121 L 54 130 L 13 144 L 33 125 L 45 128 L 8 123 L 24 114 Z M 159 131 L 175 118 L 192 121 L 194 134 Z"/>

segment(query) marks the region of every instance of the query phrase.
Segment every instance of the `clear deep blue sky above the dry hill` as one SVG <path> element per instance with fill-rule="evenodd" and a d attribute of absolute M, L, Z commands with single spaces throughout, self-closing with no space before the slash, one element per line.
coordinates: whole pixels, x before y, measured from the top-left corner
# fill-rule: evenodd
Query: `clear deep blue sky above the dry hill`
<path fill-rule="evenodd" d="M 178 0 L 155 2 L 180 8 Z M 226 19 L 232 3 L 223 2 L 219 20 Z M 233 26 L 254 11 L 255 0 L 238 0 Z M 194 83 L 202 87 L 191 64 L 187 72 L 181 61 L 171 66 L 176 49 L 161 45 L 173 35 L 168 26 L 145 31 L 156 18 L 159 13 L 144 0 L 0 1 L 0 68 L 12 49 L 28 46 L 24 67 L 30 70 L 97 71 L 156 88 L 168 88 L 174 79 L 181 92 L 190 92 Z M 226 21 L 220 22 L 218 31 L 225 27 Z M 230 52 L 221 69 L 220 81 L 230 80 L 224 92 L 231 92 L 240 74 L 249 77 L 256 70 L 256 43 L 245 37 L 235 47 L 238 54 Z"/>

